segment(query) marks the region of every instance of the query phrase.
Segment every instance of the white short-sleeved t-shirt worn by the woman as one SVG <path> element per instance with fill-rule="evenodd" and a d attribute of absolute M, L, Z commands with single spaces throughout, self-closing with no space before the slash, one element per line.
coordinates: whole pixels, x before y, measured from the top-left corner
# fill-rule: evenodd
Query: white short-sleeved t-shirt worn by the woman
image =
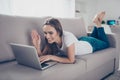
<path fill-rule="evenodd" d="M 78 39 L 70 32 L 63 31 L 61 50 L 67 53 L 67 47 L 71 44 L 75 45 L 75 55 L 84 55 L 93 52 L 92 46 L 87 41 L 78 41 Z"/>

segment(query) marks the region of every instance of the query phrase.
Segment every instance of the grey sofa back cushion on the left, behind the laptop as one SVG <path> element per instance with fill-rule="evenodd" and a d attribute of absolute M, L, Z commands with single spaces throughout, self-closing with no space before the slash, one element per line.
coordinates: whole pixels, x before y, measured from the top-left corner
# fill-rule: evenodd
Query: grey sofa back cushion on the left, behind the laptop
<path fill-rule="evenodd" d="M 30 32 L 34 28 L 42 33 L 41 22 L 41 18 L 0 15 L 0 62 L 14 59 L 9 43 L 31 44 Z"/>

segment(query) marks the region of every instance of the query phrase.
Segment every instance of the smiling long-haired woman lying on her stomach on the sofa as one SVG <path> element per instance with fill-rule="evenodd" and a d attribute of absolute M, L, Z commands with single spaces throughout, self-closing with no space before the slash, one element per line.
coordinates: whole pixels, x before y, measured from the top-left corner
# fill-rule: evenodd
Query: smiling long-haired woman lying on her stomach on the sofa
<path fill-rule="evenodd" d="M 36 30 L 32 30 L 31 37 L 40 61 L 57 61 L 60 63 L 74 63 L 75 55 L 90 54 L 94 51 L 109 47 L 108 38 L 101 27 L 105 12 L 98 13 L 93 19 L 94 30 L 90 36 L 77 39 L 71 32 L 63 31 L 58 19 L 49 18 L 43 25 L 46 46 L 40 50 L 41 37 Z M 62 55 L 67 57 L 62 57 Z"/>

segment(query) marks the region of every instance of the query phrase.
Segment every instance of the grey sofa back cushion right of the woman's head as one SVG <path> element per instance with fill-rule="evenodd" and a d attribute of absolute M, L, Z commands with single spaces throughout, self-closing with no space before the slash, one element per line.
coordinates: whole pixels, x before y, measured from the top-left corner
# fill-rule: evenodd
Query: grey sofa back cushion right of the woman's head
<path fill-rule="evenodd" d="M 86 27 L 83 18 L 58 18 L 64 30 L 72 32 L 77 38 L 86 36 Z"/>

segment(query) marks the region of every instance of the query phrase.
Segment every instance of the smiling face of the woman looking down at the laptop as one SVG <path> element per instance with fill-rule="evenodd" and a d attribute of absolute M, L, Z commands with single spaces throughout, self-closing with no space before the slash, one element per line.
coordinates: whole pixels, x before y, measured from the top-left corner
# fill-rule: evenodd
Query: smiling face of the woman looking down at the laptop
<path fill-rule="evenodd" d="M 48 43 L 57 42 L 59 34 L 54 27 L 52 27 L 51 25 L 44 25 L 43 31 L 45 38 L 48 40 Z"/>

